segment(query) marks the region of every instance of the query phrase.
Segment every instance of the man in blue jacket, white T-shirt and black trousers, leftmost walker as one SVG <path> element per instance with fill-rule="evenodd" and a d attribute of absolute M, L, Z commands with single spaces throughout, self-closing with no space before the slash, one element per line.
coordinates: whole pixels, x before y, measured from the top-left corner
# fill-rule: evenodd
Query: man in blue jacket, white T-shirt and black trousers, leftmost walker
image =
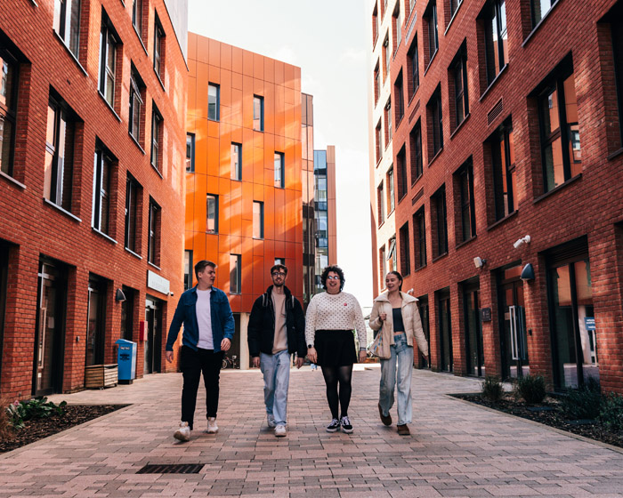
<path fill-rule="evenodd" d="M 174 342 L 180 327 L 184 325 L 180 349 L 180 369 L 184 380 L 182 422 L 174 433 L 174 438 L 180 441 L 190 439 L 202 372 L 206 385 L 207 432 L 214 434 L 218 431 L 219 375 L 224 351 L 230 349 L 234 334 L 230 301 L 223 291 L 213 286 L 216 265 L 212 261 L 199 261 L 195 265 L 195 275 L 197 285 L 182 293 L 166 339 L 166 361 L 171 363 Z"/>

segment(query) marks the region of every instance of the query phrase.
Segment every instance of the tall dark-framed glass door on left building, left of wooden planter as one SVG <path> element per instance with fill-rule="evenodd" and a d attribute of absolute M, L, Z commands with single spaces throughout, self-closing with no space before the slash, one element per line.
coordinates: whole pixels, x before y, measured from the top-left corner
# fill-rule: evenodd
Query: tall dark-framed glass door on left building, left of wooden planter
<path fill-rule="evenodd" d="M 64 278 L 53 264 L 39 264 L 39 300 L 33 394 L 61 392 L 63 357 Z"/>

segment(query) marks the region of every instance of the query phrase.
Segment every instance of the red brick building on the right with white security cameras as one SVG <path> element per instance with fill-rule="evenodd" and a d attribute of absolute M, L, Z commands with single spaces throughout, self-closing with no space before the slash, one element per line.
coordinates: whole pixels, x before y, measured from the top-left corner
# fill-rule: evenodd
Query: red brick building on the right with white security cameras
<path fill-rule="evenodd" d="M 405 276 L 433 370 L 623 392 L 622 20 L 621 0 L 374 5 L 374 293 Z"/>

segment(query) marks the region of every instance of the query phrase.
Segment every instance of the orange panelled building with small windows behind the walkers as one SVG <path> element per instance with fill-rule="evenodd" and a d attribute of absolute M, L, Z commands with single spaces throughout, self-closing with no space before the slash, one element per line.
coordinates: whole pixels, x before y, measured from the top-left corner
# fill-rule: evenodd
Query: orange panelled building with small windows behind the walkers
<path fill-rule="evenodd" d="M 303 298 L 301 68 L 189 33 L 185 285 L 214 261 L 249 364 L 247 321 L 276 261 Z"/>

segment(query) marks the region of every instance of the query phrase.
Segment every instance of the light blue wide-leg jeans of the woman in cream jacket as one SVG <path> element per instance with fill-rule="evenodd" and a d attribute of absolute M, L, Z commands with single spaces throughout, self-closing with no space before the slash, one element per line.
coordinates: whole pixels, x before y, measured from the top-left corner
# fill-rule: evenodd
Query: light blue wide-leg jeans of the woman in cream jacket
<path fill-rule="evenodd" d="M 393 388 L 398 376 L 398 425 L 411 423 L 413 414 L 411 399 L 411 375 L 413 374 L 413 348 L 407 345 L 407 336 L 399 333 L 393 336 L 390 347 L 392 357 L 381 359 L 381 386 L 378 402 L 384 415 L 393 406 Z"/>

